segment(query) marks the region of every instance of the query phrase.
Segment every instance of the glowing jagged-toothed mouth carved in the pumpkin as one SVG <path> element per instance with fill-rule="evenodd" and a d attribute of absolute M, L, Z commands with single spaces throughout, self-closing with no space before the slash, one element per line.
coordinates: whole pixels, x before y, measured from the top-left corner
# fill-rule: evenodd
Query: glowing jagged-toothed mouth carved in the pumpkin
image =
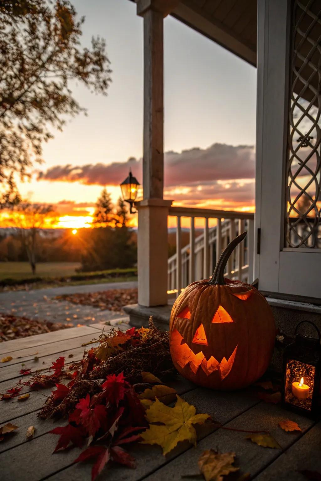
<path fill-rule="evenodd" d="M 222 380 L 229 375 L 237 350 L 236 345 L 228 360 L 223 357 L 221 362 L 218 362 L 213 355 L 211 355 L 209 359 L 206 359 L 205 354 L 203 354 L 202 351 L 197 354 L 193 353 L 192 349 L 189 348 L 186 342 L 184 342 L 183 337 L 180 335 L 177 329 L 174 329 L 171 333 L 170 345 L 171 350 L 177 353 L 175 359 L 182 369 L 189 365 L 193 373 L 196 374 L 198 369 L 201 368 L 205 372 L 206 376 L 209 376 L 214 371 L 218 371 L 218 374 Z"/>

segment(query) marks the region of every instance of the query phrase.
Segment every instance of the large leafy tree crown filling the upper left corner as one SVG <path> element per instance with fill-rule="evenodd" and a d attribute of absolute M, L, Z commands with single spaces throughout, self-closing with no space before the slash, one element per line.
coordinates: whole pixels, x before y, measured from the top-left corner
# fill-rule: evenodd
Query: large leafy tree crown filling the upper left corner
<path fill-rule="evenodd" d="M 66 116 L 86 110 L 70 81 L 106 94 L 111 82 L 105 42 L 80 48 L 84 18 L 68 0 L 0 2 L 0 194 L 17 200 L 13 174 L 41 162 L 42 142 Z M 1 196 L 0 195 L 0 196 Z"/>

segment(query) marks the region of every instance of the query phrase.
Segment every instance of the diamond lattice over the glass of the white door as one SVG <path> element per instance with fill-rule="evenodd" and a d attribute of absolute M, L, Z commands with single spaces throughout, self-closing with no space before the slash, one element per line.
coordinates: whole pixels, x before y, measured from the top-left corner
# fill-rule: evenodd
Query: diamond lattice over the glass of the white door
<path fill-rule="evenodd" d="M 321 247 L 321 3 L 294 0 L 286 247 Z"/>

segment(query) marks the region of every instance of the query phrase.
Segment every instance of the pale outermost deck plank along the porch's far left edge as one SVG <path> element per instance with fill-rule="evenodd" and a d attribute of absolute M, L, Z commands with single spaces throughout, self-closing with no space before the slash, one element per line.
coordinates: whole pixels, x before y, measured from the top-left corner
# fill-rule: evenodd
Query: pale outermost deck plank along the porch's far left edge
<path fill-rule="evenodd" d="M 84 336 L 85 334 L 96 333 L 95 328 L 82 326 L 79 328 L 61 329 L 46 334 L 37 334 L 35 336 L 28 336 L 22 339 L 14 339 L 13 341 L 5 341 L 0 343 L 0 355 L 12 351 L 26 349 L 27 347 L 37 347 L 51 342 L 63 341 L 66 339 L 73 339 L 75 337 Z"/>

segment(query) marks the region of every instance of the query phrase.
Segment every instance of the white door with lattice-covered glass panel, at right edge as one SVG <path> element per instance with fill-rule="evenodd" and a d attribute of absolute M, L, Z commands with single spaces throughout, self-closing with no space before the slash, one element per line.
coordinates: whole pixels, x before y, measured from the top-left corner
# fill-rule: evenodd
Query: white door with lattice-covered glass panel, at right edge
<path fill-rule="evenodd" d="M 259 288 L 321 298 L 320 0 L 258 1 L 256 181 Z"/>

